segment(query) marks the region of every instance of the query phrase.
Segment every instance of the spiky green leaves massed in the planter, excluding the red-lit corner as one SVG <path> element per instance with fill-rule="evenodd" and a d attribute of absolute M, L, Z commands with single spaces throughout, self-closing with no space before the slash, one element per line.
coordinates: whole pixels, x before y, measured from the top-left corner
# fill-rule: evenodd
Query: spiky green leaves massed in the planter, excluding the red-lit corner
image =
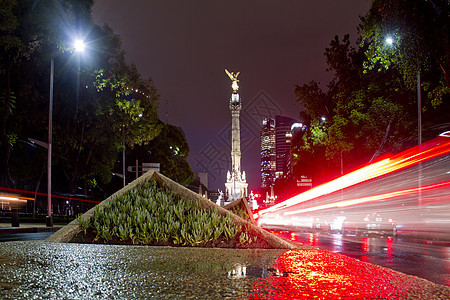
<path fill-rule="evenodd" d="M 241 230 L 229 214 L 200 209 L 198 201 L 180 199 L 155 180 L 111 199 L 102 210 L 97 207 L 89 226 L 95 240 L 116 238 L 146 245 L 171 241 L 196 246 L 213 239 L 234 239 Z M 248 240 L 245 235 L 242 239 Z"/>

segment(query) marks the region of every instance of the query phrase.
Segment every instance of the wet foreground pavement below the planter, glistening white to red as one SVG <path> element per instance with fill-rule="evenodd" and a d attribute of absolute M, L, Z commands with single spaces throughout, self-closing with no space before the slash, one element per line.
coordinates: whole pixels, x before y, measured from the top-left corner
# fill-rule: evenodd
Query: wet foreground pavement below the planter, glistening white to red
<path fill-rule="evenodd" d="M 323 250 L 0 243 L 1 299 L 450 299 L 450 287 Z"/>

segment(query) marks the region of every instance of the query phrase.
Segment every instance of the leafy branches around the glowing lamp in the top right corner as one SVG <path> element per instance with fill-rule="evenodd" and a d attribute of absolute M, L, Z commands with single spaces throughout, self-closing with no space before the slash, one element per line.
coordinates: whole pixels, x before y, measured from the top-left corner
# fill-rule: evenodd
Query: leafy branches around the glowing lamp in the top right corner
<path fill-rule="evenodd" d="M 373 1 L 361 23 L 366 70 L 395 66 L 411 90 L 417 86 L 420 71 L 428 104 L 437 107 L 448 101 L 449 15 L 446 0 Z"/>

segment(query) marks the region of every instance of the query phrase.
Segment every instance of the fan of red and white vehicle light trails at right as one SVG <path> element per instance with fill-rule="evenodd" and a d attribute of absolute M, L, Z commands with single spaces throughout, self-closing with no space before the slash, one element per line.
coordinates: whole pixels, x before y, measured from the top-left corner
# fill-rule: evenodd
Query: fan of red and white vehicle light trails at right
<path fill-rule="evenodd" d="M 450 138 L 380 159 L 262 210 L 258 223 L 450 240 Z"/>

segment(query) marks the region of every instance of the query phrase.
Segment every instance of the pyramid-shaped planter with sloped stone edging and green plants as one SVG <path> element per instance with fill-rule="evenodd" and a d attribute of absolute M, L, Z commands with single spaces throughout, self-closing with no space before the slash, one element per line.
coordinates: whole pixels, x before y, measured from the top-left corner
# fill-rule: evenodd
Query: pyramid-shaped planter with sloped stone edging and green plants
<path fill-rule="evenodd" d="M 242 206 L 242 205 L 240 205 Z M 234 207 L 239 212 L 240 206 Z M 243 206 L 248 217 L 248 207 Z M 49 242 L 311 249 L 290 243 L 155 171 L 50 236 Z"/>

